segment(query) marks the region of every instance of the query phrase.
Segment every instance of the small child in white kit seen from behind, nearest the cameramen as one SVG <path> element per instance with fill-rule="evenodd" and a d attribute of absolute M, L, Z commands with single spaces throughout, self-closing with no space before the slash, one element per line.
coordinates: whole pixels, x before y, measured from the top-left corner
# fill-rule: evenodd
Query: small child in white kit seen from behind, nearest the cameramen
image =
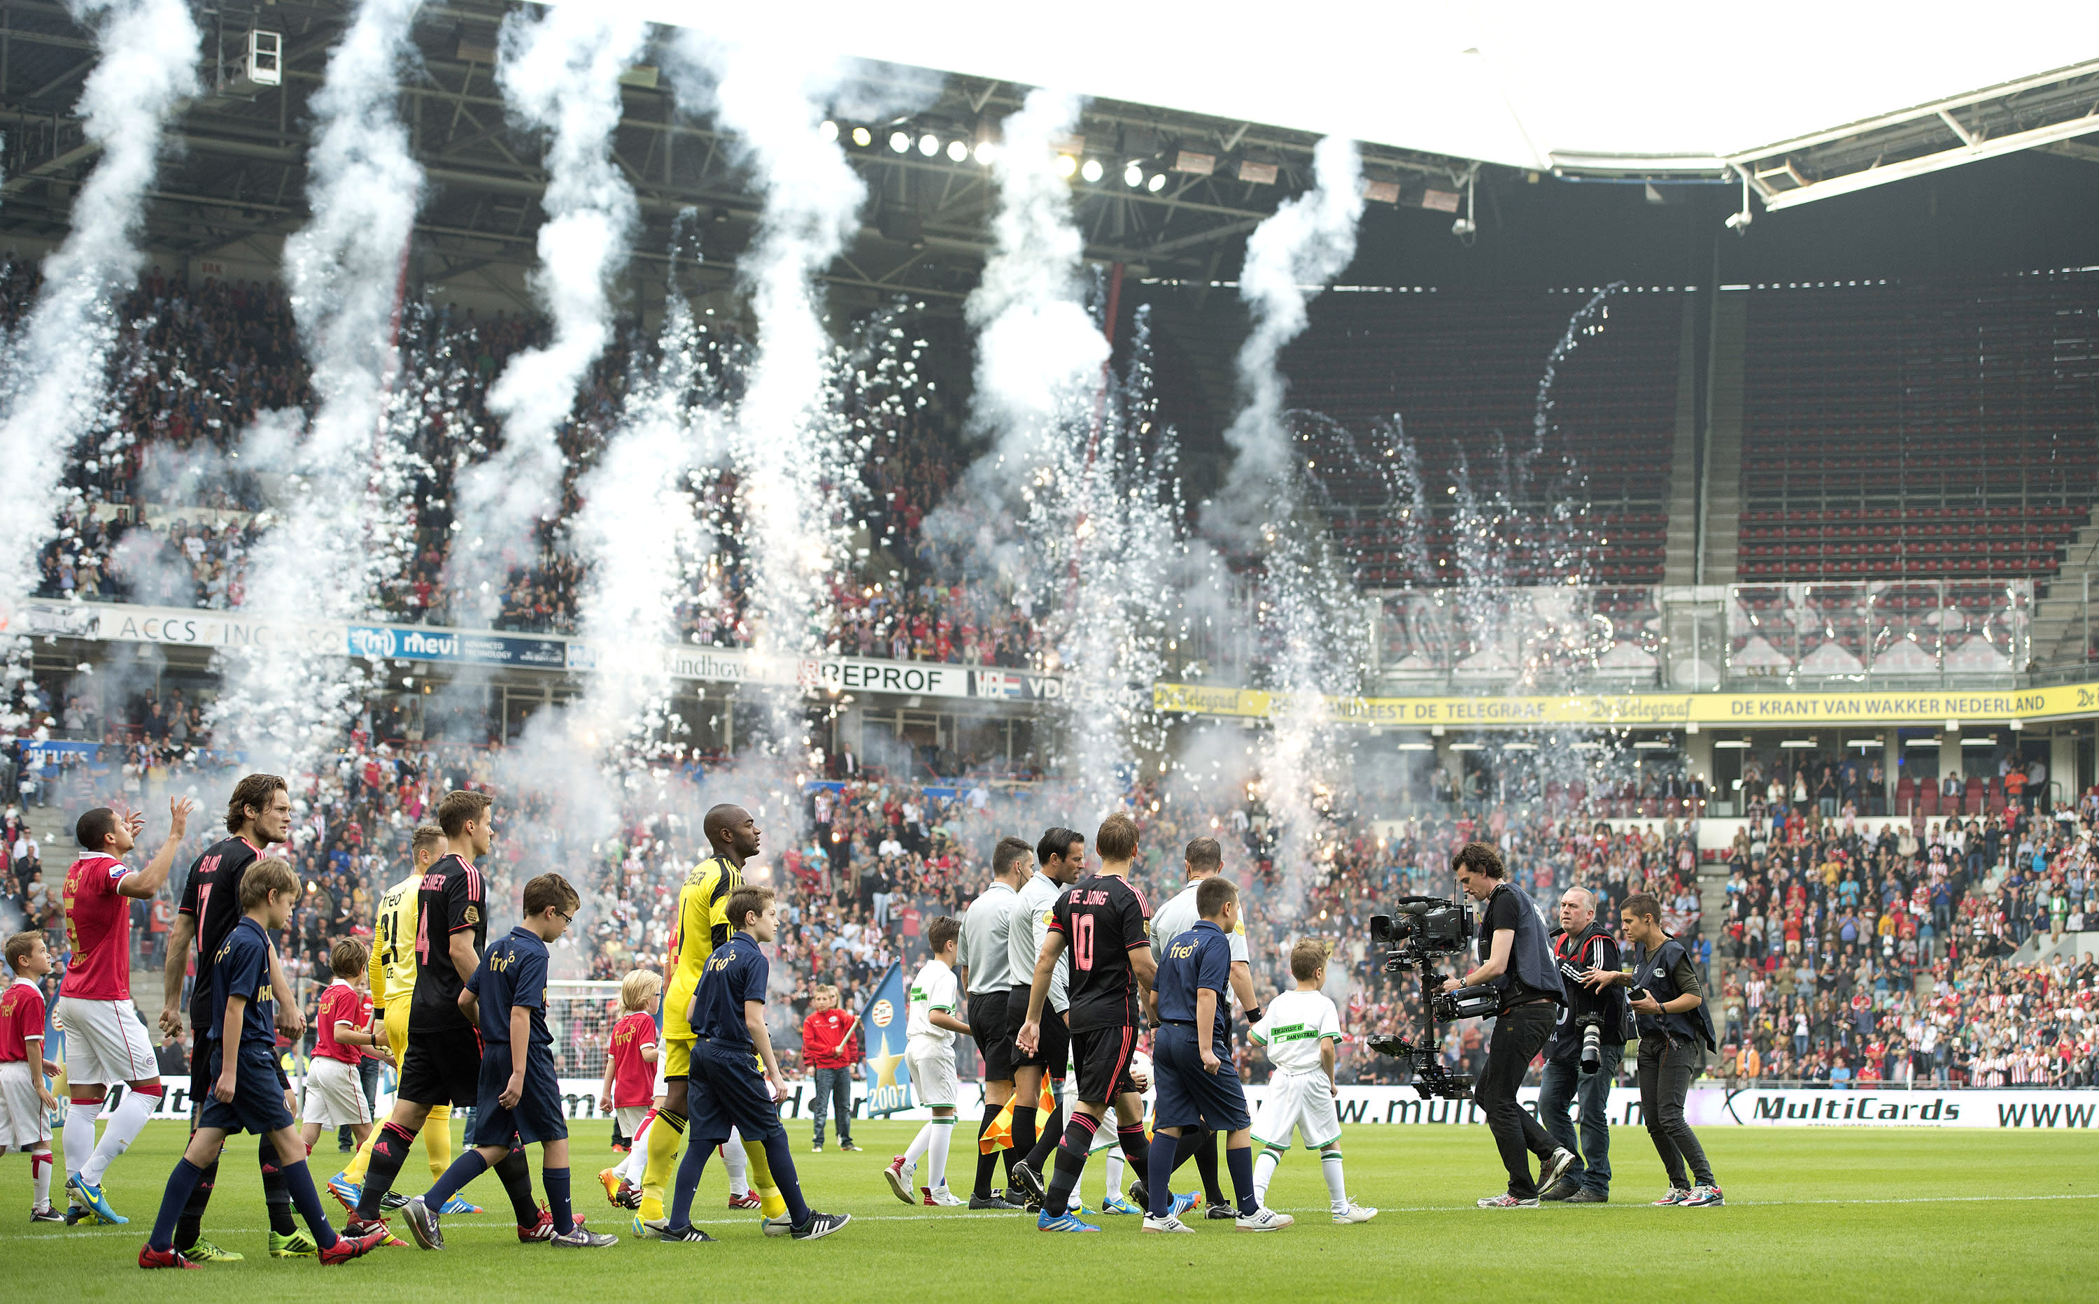
<path fill-rule="evenodd" d="M 1320 1153 L 1333 1220 L 1369 1222 L 1377 1210 L 1352 1201 L 1341 1180 L 1341 1117 L 1333 1107 L 1341 1094 L 1333 1082 L 1341 1013 L 1320 992 L 1327 985 L 1327 943 L 1308 937 L 1293 946 L 1291 977 L 1297 979 L 1297 990 L 1268 1002 L 1261 1021 L 1253 1025 L 1253 1040 L 1266 1046 L 1268 1063 L 1274 1067 L 1261 1109 L 1253 1115 L 1253 1140 L 1261 1147 L 1253 1161 L 1253 1199 L 1268 1208 L 1268 1182 L 1274 1180 L 1282 1153 L 1291 1149 L 1295 1130 L 1308 1151 Z"/>

